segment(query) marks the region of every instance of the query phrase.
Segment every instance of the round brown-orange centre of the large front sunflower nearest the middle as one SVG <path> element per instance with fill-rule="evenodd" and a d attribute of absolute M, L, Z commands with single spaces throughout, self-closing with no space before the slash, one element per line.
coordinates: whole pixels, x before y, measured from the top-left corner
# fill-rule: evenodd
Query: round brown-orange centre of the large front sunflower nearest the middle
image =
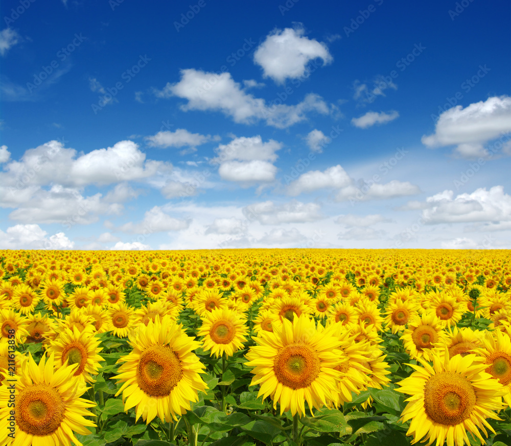
<path fill-rule="evenodd" d="M 285 345 L 273 360 L 273 370 L 279 382 L 292 389 L 309 387 L 320 370 L 318 354 L 303 343 Z"/>

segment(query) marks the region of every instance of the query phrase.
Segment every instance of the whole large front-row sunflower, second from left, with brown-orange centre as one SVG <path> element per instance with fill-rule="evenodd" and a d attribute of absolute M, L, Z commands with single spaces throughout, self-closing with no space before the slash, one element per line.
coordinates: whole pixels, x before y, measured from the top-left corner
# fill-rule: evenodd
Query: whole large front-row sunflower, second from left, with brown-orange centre
<path fill-rule="evenodd" d="M 193 352 L 200 342 L 193 340 L 169 317 L 156 318 L 147 327 L 141 325 L 130 333 L 133 350 L 117 362 L 123 362 L 112 379 L 123 382 L 124 410 L 135 407 L 135 421 L 142 415 L 146 424 L 155 416 L 170 422 L 186 413 L 190 402 L 198 401 L 198 391 L 207 385 L 199 374 L 205 366 Z"/>

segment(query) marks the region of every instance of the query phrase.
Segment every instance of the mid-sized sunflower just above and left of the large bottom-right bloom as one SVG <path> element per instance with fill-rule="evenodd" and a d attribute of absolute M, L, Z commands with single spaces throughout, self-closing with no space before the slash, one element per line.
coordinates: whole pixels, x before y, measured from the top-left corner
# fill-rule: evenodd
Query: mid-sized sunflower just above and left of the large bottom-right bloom
<path fill-rule="evenodd" d="M 428 360 L 435 344 L 443 342 L 445 338 L 440 319 L 434 313 L 429 313 L 413 317 L 400 339 L 412 358 L 424 356 Z"/>

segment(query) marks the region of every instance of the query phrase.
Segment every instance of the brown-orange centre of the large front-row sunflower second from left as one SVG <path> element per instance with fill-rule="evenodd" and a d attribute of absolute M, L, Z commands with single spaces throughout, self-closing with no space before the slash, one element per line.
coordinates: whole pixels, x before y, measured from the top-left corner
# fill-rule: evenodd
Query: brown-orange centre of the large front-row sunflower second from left
<path fill-rule="evenodd" d="M 181 362 L 169 346 L 152 345 L 140 355 L 136 380 L 151 397 L 169 395 L 182 376 Z"/>

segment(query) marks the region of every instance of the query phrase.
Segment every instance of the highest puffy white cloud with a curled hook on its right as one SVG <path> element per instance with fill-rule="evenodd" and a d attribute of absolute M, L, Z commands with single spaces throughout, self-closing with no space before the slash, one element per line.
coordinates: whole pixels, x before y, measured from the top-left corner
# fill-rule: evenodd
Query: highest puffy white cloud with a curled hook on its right
<path fill-rule="evenodd" d="M 302 28 L 275 29 L 254 52 L 254 63 L 262 67 L 263 76 L 279 84 L 304 76 L 307 64 L 318 58 L 323 65 L 333 61 L 327 45 L 304 37 Z"/>

